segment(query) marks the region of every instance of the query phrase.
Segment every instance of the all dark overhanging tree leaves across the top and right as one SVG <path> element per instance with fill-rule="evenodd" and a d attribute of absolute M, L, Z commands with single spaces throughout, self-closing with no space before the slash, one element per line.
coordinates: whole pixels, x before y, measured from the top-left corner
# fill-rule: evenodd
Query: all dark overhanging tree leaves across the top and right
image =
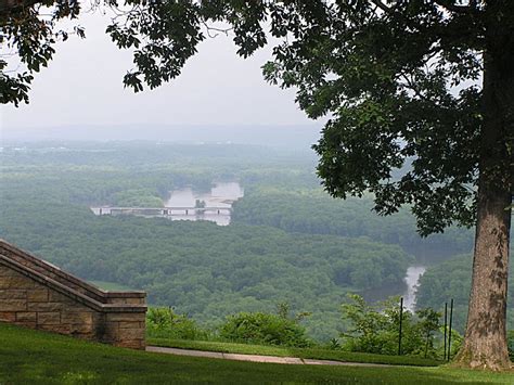
<path fill-rule="evenodd" d="M 95 4 L 102 3 L 112 5 Z M 54 18 L 80 11 L 77 3 L 56 4 Z M 410 203 L 424 234 L 454 220 L 473 222 L 475 191 L 468 185 L 476 182 L 485 145 L 479 140 L 481 90 L 476 81 L 484 67 L 478 52 L 487 48 L 498 56 L 512 48 L 510 2 L 138 0 L 126 5 L 107 34 L 120 49 L 133 52 L 136 67 L 124 82 L 136 92 L 143 82 L 154 88 L 177 77 L 213 23 L 229 25 L 244 57 L 267 44 L 268 34 L 277 46 L 274 61 L 264 66 L 266 79 L 297 87 L 297 102 L 308 116 L 332 114 L 316 145 L 318 170 L 331 194 L 361 195 L 370 189 L 376 209 L 386 214 Z M 18 21 L 26 38 L 35 35 L 35 47 L 18 49 L 22 61 L 31 68 L 36 57 L 37 67 L 42 60 L 33 53 L 51 48 L 53 25 L 43 24 L 44 34 L 38 36 L 35 26 L 43 16 L 30 7 L 2 16 L 7 26 Z M 11 44 L 17 42 L 16 30 L 7 29 Z M 46 64 L 51 55 L 43 57 Z M 505 150 L 503 139 L 497 144 Z M 391 181 L 391 170 L 412 157 L 411 170 Z"/>

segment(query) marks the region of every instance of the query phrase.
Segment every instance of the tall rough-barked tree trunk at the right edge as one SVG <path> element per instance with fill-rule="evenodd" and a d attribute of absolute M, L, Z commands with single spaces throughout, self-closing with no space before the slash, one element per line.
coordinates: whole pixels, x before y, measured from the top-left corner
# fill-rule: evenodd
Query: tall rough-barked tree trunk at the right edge
<path fill-rule="evenodd" d="M 501 23 L 497 22 L 497 25 Z M 473 279 L 463 347 L 457 363 L 481 369 L 511 367 L 506 344 L 506 291 L 512 204 L 514 44 L 491 27 L 484 54 L 477 224 Z"/>

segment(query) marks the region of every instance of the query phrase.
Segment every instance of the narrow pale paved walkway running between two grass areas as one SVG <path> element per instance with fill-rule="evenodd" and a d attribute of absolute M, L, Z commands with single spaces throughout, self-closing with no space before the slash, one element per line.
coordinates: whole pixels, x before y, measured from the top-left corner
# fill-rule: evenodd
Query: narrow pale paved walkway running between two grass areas
<path fill-rule="evenodd" d="M 205 357 L 205 358 L 217 358 L 217 359 L 222 359 L 222 360 L 266 362 L 266 363 L 343 365 L 343 367 L 368 367 L 368 368 L 397 367 L 397 365 L 389 365 L 389 364 L 382 364 L 382 363 L 340 362 L 340 361 L 330 361 L 330 360 L 313 360 L 313 359 L 297 358 L 297 357 L 240 355 L 240 354 L 232 354 L 232 352 L 189 350 L 189 349 L 178 349 L 178 348 L 158 347 L 158 346 L 147 346 L 146 351 L 162 352 L 162 354 L 177 355 L 177 356 Z"/>

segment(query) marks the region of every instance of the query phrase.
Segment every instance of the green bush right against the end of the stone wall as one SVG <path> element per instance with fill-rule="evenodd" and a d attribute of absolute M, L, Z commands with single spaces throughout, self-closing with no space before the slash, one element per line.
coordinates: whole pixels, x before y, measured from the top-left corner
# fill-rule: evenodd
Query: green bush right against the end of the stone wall
<path fill-rule="evenodd" d="M 208 332 L 171 308 L 152 307 L 146 312 L 146 334 L 154 338 L 207 339 Z"/>

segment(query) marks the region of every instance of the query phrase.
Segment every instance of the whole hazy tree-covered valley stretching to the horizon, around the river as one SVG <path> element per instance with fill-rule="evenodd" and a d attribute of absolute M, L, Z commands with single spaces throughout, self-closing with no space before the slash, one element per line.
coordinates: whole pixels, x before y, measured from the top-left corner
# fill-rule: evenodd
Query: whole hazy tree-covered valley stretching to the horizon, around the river
<path fill-rule="evenodd" d="M 329 197 L 314 164 L 307 151 L 249 145 L 13 143 L 0 152 L 0 236 L 80 278 L 145 290 L 150 304 L 209 328 L 287 303 L 311 313 L 301 322 L 319 341 L 344 329 L 347 293 L 401 295 L 407 268 L 422 264 L 420 306 L 440 310 L 454 297 L 462 330 L 471 259 L 453 256 L 472 251 L 472 231 L 421 239 L 408 209 L 380 217 L 368 196 Z M 245 190 L 227 227 L 90 209 L 158 207 L 175 189 L 223 180 Z"/>

